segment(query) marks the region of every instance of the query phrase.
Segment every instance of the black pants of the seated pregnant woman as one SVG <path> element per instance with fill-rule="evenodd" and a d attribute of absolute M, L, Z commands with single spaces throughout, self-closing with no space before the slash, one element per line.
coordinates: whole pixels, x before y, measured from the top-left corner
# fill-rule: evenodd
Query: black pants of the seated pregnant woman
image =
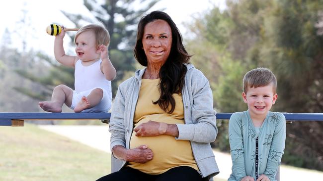
<path fill-rule="evenodd" d="M 160 175 L 149 175 L 139 170 L 124 167 L 118 172 L 101 177 L 96 181 L 203 181 L 201 175 L 193 168 L 181 166 Z"/>

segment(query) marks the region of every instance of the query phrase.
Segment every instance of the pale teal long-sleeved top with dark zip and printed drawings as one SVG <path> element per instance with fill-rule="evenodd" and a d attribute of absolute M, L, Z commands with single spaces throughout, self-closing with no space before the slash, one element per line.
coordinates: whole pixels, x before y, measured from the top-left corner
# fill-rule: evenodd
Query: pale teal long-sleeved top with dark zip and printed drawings
<path fill-rule="evenodd" d="M 285 139 L 286 121 L 282 113 L 268 112 L 260 128 L 253 126 L 248 111 L 234 113 L 229 121 L 233 166 L 228 181 L 240 181 L 245 176 L 256 180 L 256 173 L 258 176 L 265 174 L 270 181 L 275 181 L 284 154 Z"/>

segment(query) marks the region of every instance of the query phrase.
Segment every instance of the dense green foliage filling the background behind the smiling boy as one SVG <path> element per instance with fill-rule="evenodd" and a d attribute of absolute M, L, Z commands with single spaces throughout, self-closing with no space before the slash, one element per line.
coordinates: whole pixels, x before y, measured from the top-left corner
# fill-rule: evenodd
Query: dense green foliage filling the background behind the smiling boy
<path fill-rule="evenodd" d="M 246 110 L 242 77 L 267 67 L 278 81 L 273 111 L 323 112 L 322 9 L 322 0 L 227 0 L 223 12 L 215 7 L 197 18 L 189 52 L 211 82 L 217 110 Z M 215 146 L 229 150 L 227 123 L 218 126 Z M 287 125 L 283 162 L 323 170 L 322 129 L 323 122 Z"/>

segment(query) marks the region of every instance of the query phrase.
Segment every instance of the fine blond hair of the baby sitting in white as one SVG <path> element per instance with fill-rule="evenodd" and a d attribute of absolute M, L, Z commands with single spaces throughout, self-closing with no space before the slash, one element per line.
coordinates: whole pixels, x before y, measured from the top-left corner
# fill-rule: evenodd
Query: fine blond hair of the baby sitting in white
<path fill-rule="evenodd" d="M 74 38 L 74 43 L 76 43 L 76 39 L 78 38 L 78 36 L 86 31 L 93 31 L 94 35 L 95 35 L 95 43 L 96 46 L 97 45 L 106 45 L 109 46 L 110 44 L 110 35 L 109 32 L 101 25 L 98 24 L 89 24 L 86 26 L 83 26 L 82 28 L 80 28 L 80 30 L 78 31 L 78 33 L 76 34 L 75 38 Z"/>

